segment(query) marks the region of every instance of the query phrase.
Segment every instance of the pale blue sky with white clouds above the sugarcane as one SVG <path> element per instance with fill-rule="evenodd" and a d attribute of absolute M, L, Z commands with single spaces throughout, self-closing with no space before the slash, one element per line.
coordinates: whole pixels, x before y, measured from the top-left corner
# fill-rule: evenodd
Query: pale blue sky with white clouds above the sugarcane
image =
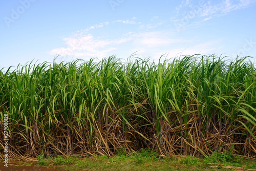
<path fill-rule="evenodd" d="M 0 69 L 111 55 L 256 55 L 256 0 L 3 0 Z"/>

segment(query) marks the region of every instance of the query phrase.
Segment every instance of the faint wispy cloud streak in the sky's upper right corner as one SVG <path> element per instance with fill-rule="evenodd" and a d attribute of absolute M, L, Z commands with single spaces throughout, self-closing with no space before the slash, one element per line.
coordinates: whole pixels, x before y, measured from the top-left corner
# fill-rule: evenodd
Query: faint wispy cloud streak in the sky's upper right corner
<path fill-rule="evenodd" d="M 217 1 L 191 1 L 183 0 L 176 7 L 176 16 L 170 17 L 170 22 L 174 24 L 176 30 L 184 30 L 188 25 L 203 23 L 211 18 L 223 16 L 231 11 L 244 9 L 256 3 L 256 0 L 224 0 Z M 193 22 L 191 22 L 194 20 Z"/>

